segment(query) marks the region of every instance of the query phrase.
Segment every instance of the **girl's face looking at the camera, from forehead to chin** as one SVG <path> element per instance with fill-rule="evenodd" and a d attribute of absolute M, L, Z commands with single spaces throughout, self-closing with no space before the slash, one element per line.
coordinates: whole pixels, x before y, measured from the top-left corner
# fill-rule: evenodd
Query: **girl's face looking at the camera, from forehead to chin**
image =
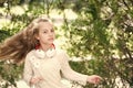
<path fill-rule="evenodd" d="M 50 22 L 40 22 L 39 34 L 37 35 L 37 40 L 39 40 L 40 44 L 41 45 L 52 44 L 54 38 L 55 33 L 53 30 L 53 25 Z"/>

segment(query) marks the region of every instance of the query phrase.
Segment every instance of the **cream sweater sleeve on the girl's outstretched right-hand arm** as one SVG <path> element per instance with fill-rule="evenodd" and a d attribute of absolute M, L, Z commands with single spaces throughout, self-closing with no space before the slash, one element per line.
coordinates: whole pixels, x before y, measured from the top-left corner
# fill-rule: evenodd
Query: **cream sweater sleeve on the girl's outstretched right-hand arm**
<path fill-rule="evenodd" d="M 74 72 L 69 65 L 69 56 L 68 56 L 68 54 L 63 52 L 63 54 L 61 54 L 61 55 L 62 55 L 61 56 L 62 57 L 61 72 L 62 72 L 64 78 L 78 81 L 79 84 L 85 86 L 88 75 L 83 75 L 83 74 Z"/>

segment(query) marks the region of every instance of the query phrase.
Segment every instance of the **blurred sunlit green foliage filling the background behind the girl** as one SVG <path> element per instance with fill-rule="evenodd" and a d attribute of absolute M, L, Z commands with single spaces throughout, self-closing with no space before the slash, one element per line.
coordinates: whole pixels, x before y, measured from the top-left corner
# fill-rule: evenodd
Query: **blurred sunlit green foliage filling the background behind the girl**
<path fill-rule="evenodd" d="M 4 0 L 0 2 L 2 6 Z M 133 2 L 132 0 L 8 0 L 4 8 L 10 15 L 10 23 L 0 30 L 0 42 L 22 30 L 31 20 L 40 14 L 50 16 L 53 9 L 63 13 L 64 22 L 61 30 L 68 38 L 62 48 L 68 50 L 70 56 L 81 57 L 82 62 L 70 62 L 76 72 L 88 75 L 100 75 L 100 85 L 86 85 L 83 88 L 122 88 L 133 87 Z M 11 13 L 14 6 L 28 9 L 21 15 Z M 78 18 L 69 20 L 65 9 L 73 10 Z M 59 33 L 60 34 L 60 33 Z M 62 35 L 62 34 L 61 34 Z M 60 36 L 59 36 L 60 37 Z M 92 59 L 88 61 L 88 56 Z M 0 62 L 0 79 L 7 88 L 16 86 L 16 80 L 22 76 L 22 65 Z M 10 61 L 9 61 L 10 62 Z M 8 68 L 8 69 L 7 69 Z"/>

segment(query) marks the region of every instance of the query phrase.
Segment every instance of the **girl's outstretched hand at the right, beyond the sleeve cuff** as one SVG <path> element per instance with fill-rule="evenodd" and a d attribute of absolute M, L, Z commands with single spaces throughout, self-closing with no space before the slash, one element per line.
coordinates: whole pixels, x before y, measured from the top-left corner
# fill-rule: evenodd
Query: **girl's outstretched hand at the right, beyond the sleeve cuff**
<path fill-rule="evenodd" d="M 86 81 L 90 84 L 99 84 L 102 78 L 98 75 L 89 76 Z"/>

